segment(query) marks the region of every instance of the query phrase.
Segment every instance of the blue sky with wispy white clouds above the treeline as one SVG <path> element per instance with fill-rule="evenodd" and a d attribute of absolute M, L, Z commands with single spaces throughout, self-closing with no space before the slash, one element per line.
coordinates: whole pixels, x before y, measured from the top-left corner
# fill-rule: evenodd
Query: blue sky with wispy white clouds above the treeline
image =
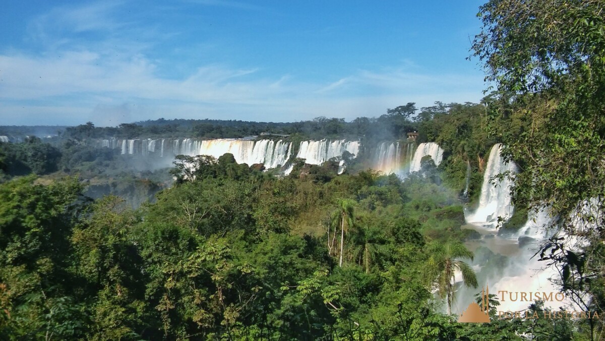
<path fill-rule="evenodd" d="M 482 98 L 465 60 L 482 2 L 377 3 L 6 1 L 0 125 L 349 121 Z"/>

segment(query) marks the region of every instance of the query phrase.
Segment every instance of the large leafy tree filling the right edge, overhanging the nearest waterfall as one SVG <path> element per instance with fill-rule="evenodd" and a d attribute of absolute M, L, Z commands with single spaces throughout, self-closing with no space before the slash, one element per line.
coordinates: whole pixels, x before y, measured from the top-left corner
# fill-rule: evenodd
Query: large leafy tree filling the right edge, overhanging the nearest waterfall
<path fill-rule="evenodd" d="M 522 170 L 514 204 L 548 207 L 551 225 L 564 230 L 540 256 L 583 310 L 605 304 L 597 280 L 605 273 L 604 10 L 597 0 L 492 0 L 480 7 L 483 30 L 473 41 L 497 86 L 490 130 Z M 574 240 L 587 247 L 572 251 Z"/>

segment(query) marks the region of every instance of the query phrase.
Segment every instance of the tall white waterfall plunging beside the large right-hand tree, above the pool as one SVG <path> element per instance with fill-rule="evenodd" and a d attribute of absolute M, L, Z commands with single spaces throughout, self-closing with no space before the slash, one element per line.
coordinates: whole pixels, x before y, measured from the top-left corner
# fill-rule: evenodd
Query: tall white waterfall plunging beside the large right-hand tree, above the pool
<path fill-rule="evenodd" d="M 466 221 L 474 224 L 487 225 L 495 228 L 498 224 L 498 217 L 508 220 L 512 216 L 513 207 L 511 205 L 511 187 L 513 179 L 511 176 L 505 176 L 502 181 L 491 181 L 492 177 L 511 171 L 515 173 L 517 166 L 514 162 L 505 162 L 500 156 L 502 150 L 501 144 L 495 144 L 489 152 L 488 165 L 483 175 L 483 185 L 481 187 L 481 196 L 479 197 L 479 207 L 477 210 L 468 214 Z"/>

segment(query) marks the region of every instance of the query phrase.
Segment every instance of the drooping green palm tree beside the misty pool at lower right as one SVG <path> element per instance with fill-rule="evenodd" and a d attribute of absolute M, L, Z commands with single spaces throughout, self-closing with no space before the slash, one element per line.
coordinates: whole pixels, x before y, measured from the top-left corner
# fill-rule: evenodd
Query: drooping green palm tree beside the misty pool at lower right
<path fill-rule="evenodd" d="M 437 285 L 440 296 L 446 297 L 448 315 L 451 314 L 451 305 L 454 300 L 454 274 L 456 270 L 462 273 L 462 282 L 466 286 L 477 288 L 475 271 L 467 263 L 459 259 L 473 260 L 473 253 L 463 243 L 433 242 L 428 246 L 430 257 L 428 259 L 425 275 L 431 284 Z"/>

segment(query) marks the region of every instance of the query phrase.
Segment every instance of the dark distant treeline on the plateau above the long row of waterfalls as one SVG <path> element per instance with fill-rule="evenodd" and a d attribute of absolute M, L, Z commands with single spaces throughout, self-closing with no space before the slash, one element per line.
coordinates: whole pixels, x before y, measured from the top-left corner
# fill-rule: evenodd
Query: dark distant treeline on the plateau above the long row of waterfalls
<path fill-rule="evenodd" d="M 405 139 L 407 133 L 420 131 L 420 140 L 430 139 L 422 133 L 427 122 L 447 115 L 451 110 L 460 108 L 483 108 L 482 105 L 465 103 L 443 104 L 435 102 L 432 107 L 418 110 L 410 102 L 378 118 L 360 117 L 346 122 L 342 118 L 318 117 L 310 121 L 299 122 L 252 122 L 214 119 L 157 119 L 135 123 L 120 124 L 117 127 L 95 127 L 92 122 L 67 127 L 64 138 L 83 141 L 90 138 L 116 137 L 131 139 L 135 137 L 198 137 L 207 139 L 259 136 L 261 133 L 286 134 L 304 139 L 363 139 L 364 141 Z M 428 129 L 430 130 L 430 129 Z M 427 131 L 428 131 L 427 130 Z"/>

